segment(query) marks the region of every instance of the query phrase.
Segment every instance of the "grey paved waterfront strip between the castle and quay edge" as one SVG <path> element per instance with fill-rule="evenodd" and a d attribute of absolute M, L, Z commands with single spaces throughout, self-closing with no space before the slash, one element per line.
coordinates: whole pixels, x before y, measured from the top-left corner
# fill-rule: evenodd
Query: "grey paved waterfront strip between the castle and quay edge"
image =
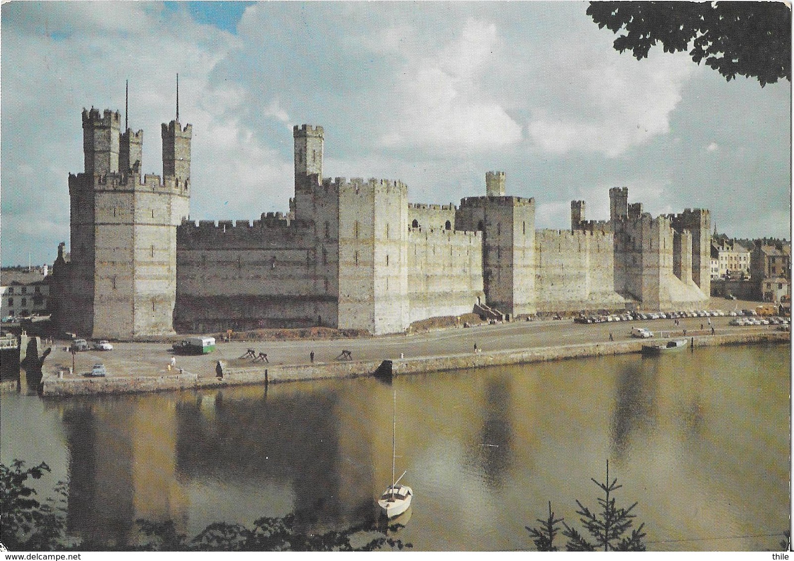
<path fill-rule="evenodd" d="M 718 300 L 711 309 L 727 312 L 733 302 Z M 721 306 L 720 306 L 721 304 Z M 741 306 L 740 306 L 741 307 Z M 752 306 L 754 307 L 754 306 Z M 218 343 L 216 352 L 203 356 L 176 357 L 176 367 L 198 375 L 199 378 L 214 377 L 215 363 L 224 360 L 230 367 L 241 367 L 253 363 L 252 359 L 238 359 L 246 349 L 268 354 L 270 364 L 307 364 L 310 352 L 314 352 L 315 363 L 336 362 L 342 349 L 352 352 L 354 360 L 383 360 L 434 357 L 473 352 L 474 345 L 481 352 L 499 352 L 517 348 L 557 347 L 584 343 L 607 343 L 610 333 L 615 341 L 631 340 L 632 327 L 647 327 L 658 336 L 708 335 L 711 319 L 717 334 L 731 332 L 754 332 L 774 329 L 774 326 L 734 327 L 728 325 L 730 317 L 691 317 L 680 320 L 619 321 L 594 325 L 581 325 L 571 320 L 521 321 L 499 325 L 478 325 L 471 328 L 442 329 L 417 335 L 380 336 L 361 339 L 337 340 L 290 340 L 290 341 L 233 341 Z M 703 325 L 703 330 L 700 326 Z M 52 355 L 44 366 L 45 372 L 56 372 L 59 366 L 71 366 L 71 355 L 64 351 L 67 342 L 56 342 Z M 105 364 L 111 376 L 160 376 L 168 373 L 172 357 L 170 345 L 164 343 L 117 343 L 110 352 L 80 352 L 75 357 L 75 378 L 91 371 L 94 363 Z"/>

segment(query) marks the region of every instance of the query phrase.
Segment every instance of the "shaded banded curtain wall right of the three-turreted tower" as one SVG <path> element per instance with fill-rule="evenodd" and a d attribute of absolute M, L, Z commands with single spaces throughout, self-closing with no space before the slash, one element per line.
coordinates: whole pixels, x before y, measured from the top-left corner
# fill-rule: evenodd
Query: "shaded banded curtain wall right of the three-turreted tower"
<path fill-rule="evenodd" d="M 313 224 L 270 213 L 177 229 L 175 328 L 182 332 L 335 325 L 335 274 Z"/>

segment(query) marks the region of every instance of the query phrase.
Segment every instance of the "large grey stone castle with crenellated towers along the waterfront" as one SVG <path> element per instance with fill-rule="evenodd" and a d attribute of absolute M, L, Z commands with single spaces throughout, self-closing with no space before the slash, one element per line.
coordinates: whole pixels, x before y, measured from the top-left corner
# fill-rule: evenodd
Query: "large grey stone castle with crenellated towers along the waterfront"
<path fill-rule="evenodd" d="M 191 221 L 191 125 L 162 125 L 163 173 L 141 177 L 143 131 L 83 110 L 85 171 L 69 175 L 71 259 L 59 248 L 54 317 L 83 336 L 325 325 L 373 334 L 472 311 L 690 309 L 710 293 L 705 209 L 651 217 L 611 189 L 609 221 L 536 230 L 534 198 L 502 171 L 460 206 L 408 202 L 385 179 L 322 175 L 322 127 L 295 126 L 290 211 Z"/>

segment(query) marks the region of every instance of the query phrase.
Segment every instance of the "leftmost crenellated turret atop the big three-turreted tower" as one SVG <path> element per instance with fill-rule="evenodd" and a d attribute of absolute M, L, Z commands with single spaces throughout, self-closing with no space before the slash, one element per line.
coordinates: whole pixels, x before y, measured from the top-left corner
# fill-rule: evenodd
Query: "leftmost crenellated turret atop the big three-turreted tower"
<path fill-rule="evenodd" d="M 118 172 L 118 141 L 121 115 L 118 111 L 83 109 L 83 153 L 86 173 L 107 175 Z"/>

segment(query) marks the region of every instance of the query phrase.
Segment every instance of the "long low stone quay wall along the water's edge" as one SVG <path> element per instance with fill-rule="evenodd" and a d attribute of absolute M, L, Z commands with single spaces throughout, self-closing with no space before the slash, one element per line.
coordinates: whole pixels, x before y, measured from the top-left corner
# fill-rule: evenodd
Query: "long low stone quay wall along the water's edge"
<path fill-rule="evenodd" d="M 694 347 L 716 347 L 730 344 L 754 344 L 784 342 L 791 340 L 790 332 L 738 332 L 723 335 L 689 336 Z M 501 352 L 464 353 L 459 355 L 393 359 L 392 375 L 418 374 L 424 372 L 462 370 L 547 362 L 550 360 L 576 359 L 592 356 L 621 355 L 641 352 L 647 341 L 632 340 L 592 344 L 567 345 L 511 349 Z M 354 361 L 348 363 L 276 365 L 268 367 L 226 367 L 224 376 L 201 378 L 195 373 L 181 375 L 108 377 L 108 378 L 57 378 L 46 375 L 41 381 L 40 393 L 46 398 L 67 398 L 74 395 L 125 394 L 165 390 L 196 390 L 261 384 L 265 382 L 299 382 L 324 378 L 356 378 L 373 375 L 381 361 Z"/>

